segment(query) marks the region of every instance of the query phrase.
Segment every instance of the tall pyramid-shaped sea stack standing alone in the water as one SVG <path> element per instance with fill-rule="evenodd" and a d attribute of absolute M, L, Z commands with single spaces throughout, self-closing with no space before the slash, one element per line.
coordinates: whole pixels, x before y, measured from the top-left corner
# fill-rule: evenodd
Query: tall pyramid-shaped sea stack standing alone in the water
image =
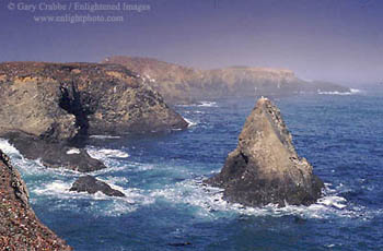
<path fill-rule="evenodd" d="M 223 188 L 227 201 L 247 206 L 310 205 L 324 187 L 298 156 L 279 109 L 267 98 L 257 101 L 221 172 L 205 182 Z"/>

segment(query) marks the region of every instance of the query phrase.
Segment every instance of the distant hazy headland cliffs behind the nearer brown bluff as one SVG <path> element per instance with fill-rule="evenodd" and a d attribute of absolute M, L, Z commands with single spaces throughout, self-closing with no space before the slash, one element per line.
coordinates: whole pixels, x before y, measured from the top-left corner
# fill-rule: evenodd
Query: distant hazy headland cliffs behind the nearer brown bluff
<path fill-rule="evenodd" d="M 311 83 L 290 70 L 232 67 L 196 70 L 150 58 L 109 57 L 103 63 L 118 63 L 147 79 L 167 103 L 190 103 L 228 96 L 292 95 L 297 93 L 349 92 L 330 83 Z"/>

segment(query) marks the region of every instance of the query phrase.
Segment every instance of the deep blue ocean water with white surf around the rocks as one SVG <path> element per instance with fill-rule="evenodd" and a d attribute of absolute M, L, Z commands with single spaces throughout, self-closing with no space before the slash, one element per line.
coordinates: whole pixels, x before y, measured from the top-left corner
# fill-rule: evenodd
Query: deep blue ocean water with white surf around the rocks
<path fill-rule="evenodd" d="M 69 192 L 80 174 L 45 169 L 5 141 L 0 146 L 37 216 L 76 250 L 383 250 L 382 97 L 274 99 L 298 153 L 326 183 L 307 207 L 243 207 L 201 183 L 235 148 L 254 98 L 177 106 L 192 122 L 186 131 L 92 140 L 89 153 L 108 166 L 92 175 L 126 199 Z"/>

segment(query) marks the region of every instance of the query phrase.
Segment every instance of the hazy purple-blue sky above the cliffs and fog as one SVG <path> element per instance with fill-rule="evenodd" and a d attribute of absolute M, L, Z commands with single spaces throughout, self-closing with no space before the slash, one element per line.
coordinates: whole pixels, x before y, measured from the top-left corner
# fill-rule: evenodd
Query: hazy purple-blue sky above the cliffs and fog
<path fill-rule="evenodd" d="M 71 4 L 71 10 L 45 10 L 53 2 Z M 89 12 L 79 3 L 149 4 L 150 10 Z M 27 4 L 35 12 L 24 10 Z M 44 15 L 123 16 L 124 22 L 35 21 Z M 201 69 L 287 68 L 303 79 L 338 83 L 378 82 L 383 81 L 383 1 L 0 0 L 0 61 L 98 62 L 113 55 Z"/>

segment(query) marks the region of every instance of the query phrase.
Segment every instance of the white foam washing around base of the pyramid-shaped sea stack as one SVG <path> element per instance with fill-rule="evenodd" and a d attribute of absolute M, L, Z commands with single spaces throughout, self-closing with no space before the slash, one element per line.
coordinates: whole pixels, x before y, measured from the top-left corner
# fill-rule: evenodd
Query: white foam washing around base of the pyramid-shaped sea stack
<path fill-rule="evenodd" d="M 236 213 L 245 215 L 271 215 L 280 217 L 283 215 L 297 215 L 304 218 L 328 218 L 351 217 L 370 218 L 370 213 L 364 210 L 358 210 L 351 206 L 346 199 L 333 194 L 330 189 L 326 189 L 326 194 L 315 204 L 310 206 L 287 205 L 278 207 L 277 205 L 266 205 L 263 207 L 248 207 L 236 203 L 228 203 L 223 200 L 223 190 L 204 184 L 200 180 L 187 180 L 165 189 L 158 189 L 151 192 L 153 198 L 162 198 L 173 203 L 188 204 L 198 208 L 198 215 L 216 218 L 222 213 Z"/>

